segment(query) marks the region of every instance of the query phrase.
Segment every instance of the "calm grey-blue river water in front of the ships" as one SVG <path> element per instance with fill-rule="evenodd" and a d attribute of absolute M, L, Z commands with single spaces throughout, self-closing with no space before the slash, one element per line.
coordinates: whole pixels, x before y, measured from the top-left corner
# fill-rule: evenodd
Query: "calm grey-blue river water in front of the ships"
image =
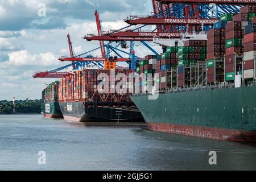
<path fill-rule="evenodd" d="M 46 165 L 38 164 L 44 151 Z M 217 165 L 210 165 L 216 151 Z M 40 158 L 42 159 L 42 158 Z M 149 131 L 0 115 L 1 170 L 256 170 L 256 146 Z"/>

